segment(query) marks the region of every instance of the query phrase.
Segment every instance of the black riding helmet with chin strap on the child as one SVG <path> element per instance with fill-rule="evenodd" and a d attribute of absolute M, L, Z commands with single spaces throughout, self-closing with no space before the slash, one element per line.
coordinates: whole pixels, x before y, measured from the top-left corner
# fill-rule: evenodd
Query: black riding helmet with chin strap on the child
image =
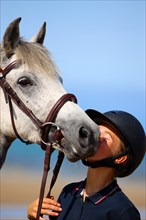
<path fill-rule="evenodd" d="M 109 166 L 115 167 L 118 177 L 125 177 L 134 172 L 141 163 L 146 150 L 146 136 L 141 123 L 131 114 L 124 111 L 108 111 L 104 114 L 92 109 L 86 110 L 87 115 L 98 125 L 105 125 L 114 131 L 125 145 L 122 154 L 103 159 L 101 161 L 88 162 L 83 164 L 91 167 Z M 122 155 L 128 154 L 126 169 L 115 165 L 114 160 Z"/>

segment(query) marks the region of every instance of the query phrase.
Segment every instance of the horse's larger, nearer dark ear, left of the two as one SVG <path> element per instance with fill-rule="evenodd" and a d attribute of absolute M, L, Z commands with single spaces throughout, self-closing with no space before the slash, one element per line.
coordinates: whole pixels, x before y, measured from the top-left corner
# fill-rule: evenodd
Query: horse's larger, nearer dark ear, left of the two
<path fill-rule="evenodd" d="M 20 39 L 19 23 L 21 18 L 12 21 L 7 27 L 3 37 L 3 47 L 7 57 L 13 54 L 14 49 L 17 47 Z"/>

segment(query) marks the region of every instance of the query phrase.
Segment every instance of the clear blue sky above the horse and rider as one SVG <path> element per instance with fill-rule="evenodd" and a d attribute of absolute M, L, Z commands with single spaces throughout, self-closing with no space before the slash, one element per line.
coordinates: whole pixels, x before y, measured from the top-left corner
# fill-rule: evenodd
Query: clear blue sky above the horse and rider
<path fill-rule="evenodd" d="M 47 22 L 44 45 L 83 109 L 121 109 L 145 128 L 145 1 L 1 1 L 1 40 L 22 17 L 29 40 Z"/>

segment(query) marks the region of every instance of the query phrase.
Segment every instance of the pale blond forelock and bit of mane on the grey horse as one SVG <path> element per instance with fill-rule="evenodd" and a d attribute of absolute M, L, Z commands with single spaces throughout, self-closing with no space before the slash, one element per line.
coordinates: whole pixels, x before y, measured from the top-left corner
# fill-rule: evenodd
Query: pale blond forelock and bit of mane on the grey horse
<path fill-rule="evenodd" d="M 25 63 L 30 70 L 37 70 L 37 72 L 49 74 L 51 78 L 60 78 L 57 66 L 52 61 L 51 53 L 44 46 L 20 40 L 14 54 L 17 59 L 20 59 L 22 63 Z M 0 65 L 3 66 L 7 63 L 8 58 L 6 57 L 1 44 L 0 56 Z"/>

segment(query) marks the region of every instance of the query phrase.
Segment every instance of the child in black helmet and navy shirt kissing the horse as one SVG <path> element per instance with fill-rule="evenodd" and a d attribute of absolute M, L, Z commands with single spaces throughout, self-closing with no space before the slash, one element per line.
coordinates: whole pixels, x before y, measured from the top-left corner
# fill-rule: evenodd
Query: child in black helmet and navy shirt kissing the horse
<path fill-rule="evenodd" d="M 142 125 L 124 111 L 86 113 L 101 133 L 96 154 L 83 160 L 88 166 L 87 177 L 65 186 L 57 202 L 44 198 L 41 213 L 52 220 L 140 220 L 139 211 L 118 186 L 117 177 L 132 174 L 145 155 Z M 30 204 L 29 219 L 35 219 L 37 207 L 38 200 Z"/>

